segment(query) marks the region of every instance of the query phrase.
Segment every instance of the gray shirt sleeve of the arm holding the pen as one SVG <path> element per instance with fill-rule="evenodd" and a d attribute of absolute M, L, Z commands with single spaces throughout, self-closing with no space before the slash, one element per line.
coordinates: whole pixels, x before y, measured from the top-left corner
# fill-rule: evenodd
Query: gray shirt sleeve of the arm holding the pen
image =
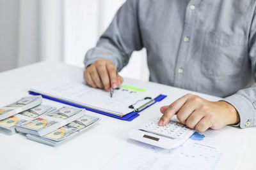
<path fill-rule="evenodd" d="M 120 71 L 127 65 L 134 50 L 143 48 L 138 23 L 138 1 L 127 0 L 117 11 L 108 29 L 84 57 L 84 66 L 88 67 L 96 60 L 109 59 Z"/>

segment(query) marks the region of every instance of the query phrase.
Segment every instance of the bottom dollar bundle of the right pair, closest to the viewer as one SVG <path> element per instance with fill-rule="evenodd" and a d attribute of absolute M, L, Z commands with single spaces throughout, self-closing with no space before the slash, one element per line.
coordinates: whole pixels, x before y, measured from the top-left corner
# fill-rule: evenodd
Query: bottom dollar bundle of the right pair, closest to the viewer
<path fill-rule="evenodd" d="M 72 136 L 76 136 L 77 134 L 85 131 L 88 127 L 92 127 L 92 125 L 95 125 L 99 120 L 100 118 L 98 117 L 84 115 L 83 117 L 78 118 L 69 124 L 63 125 L 63 127 L 60 127 L 45 136 L 35 136 L 33 134 L 27 134 L 26 136 L 28 139 L 33 141 L 38 141 L 50 146 L 56 146 L 67 141 L 67 139 L 72 138 Z"/>

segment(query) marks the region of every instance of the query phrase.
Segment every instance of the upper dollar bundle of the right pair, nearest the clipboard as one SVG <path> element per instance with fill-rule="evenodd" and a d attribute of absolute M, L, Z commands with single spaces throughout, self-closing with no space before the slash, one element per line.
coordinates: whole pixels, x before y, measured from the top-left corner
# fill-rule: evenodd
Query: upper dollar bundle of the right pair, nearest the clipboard
<path fill-rule="evenodd" d="M 85 112 L 84 109 L 63 107 L 51 113 L 41 115 L 31 121 L 17 125 L 16 131 L 36 136 L 45 136 L 63 125 L 83 117 Z"/>

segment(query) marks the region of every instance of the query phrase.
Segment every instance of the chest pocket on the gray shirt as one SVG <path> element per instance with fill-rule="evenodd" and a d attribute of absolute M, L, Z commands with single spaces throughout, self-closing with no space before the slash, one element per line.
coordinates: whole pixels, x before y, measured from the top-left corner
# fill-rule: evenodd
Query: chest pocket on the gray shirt
<path fill-rule="evenodd" d="M 207 32 L 202 45 L 200 69 L 206 76 L 239 74 L 248 55 L 246 36 Z"/>

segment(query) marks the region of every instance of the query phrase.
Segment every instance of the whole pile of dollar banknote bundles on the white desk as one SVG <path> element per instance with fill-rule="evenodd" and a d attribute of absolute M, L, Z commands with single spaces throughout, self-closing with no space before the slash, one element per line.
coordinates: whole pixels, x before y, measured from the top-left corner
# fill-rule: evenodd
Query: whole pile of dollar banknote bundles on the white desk
<path fill-rule="evenodd" d="M 56 146 L 100 120 L 81 108 L 64 106 L 57 110 L 41 103 L 41 96 L 29 96 L 0 108 L 0 132 L 22 132 L 28 139 Z"/>

